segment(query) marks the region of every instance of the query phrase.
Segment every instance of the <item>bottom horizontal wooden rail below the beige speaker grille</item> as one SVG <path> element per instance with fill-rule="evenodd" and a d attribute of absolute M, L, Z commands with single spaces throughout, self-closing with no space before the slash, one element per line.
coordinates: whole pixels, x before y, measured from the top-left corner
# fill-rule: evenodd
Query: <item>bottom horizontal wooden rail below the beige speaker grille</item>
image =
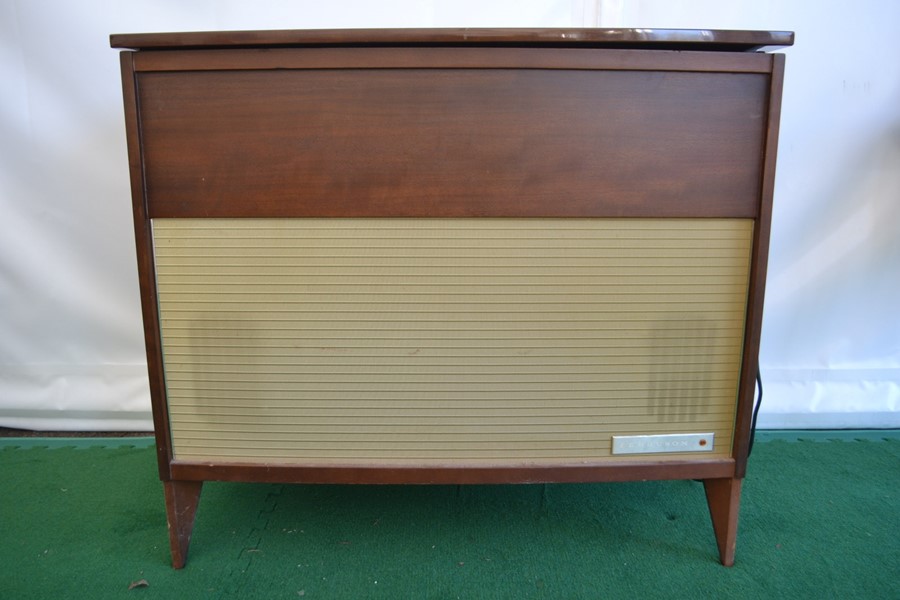
<path fill-rule="evenodd" d="M 192 481 L 332 484 L 504 484 L 718 479 L 734 476 L 734 461 L 621 461 L 554 466 L 327 465 L 295 466 L 224 462 L 172 462 L 172 476 Z"/>

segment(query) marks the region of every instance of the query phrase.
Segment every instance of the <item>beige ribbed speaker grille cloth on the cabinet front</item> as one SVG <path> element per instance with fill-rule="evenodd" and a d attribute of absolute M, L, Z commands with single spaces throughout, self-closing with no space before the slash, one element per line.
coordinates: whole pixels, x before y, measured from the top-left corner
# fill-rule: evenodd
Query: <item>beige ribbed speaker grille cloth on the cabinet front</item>
<path fill-rule="evenodd" d="M 752 221 L 153 231 L 179 460 L 619 462 L 613 434 L 679 432 L 730 455 Z"/>

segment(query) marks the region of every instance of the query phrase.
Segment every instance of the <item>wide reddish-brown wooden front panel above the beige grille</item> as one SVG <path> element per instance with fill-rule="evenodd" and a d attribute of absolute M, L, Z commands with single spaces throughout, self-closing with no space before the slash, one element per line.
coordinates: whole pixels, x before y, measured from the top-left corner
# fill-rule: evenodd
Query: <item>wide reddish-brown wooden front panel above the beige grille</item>
<path fill-rule="evenodd" d="M 151 217 L 759 212 L 766 74 L 350 68 L 137 81 Z"/>

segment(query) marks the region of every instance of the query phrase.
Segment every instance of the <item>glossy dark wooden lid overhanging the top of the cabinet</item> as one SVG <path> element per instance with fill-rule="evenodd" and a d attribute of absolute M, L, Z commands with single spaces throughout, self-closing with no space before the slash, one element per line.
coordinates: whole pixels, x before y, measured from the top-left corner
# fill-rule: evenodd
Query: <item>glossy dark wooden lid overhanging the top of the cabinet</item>
<path fill-rule="evenodd" d="M 790 31 L 715 29 L 307 29 L 113 34 L 113 48 L 262 48 L 298 46 L 507 46 L 640 48 L 748 52 L 790 46 Z"/>

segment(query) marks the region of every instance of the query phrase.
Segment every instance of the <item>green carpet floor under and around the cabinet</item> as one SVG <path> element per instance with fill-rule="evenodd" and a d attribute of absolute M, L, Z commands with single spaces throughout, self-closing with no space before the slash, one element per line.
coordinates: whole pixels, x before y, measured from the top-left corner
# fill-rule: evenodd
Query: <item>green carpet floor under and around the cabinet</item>
<path fill-rule="evenodd" d="M 208 483 L 184 570 L 143 439 L 0 439 L 0 598 L 900 598 L 900 434 L 761 435 L 702 485 Z M 135 582 L 146 586 L 129 589 Z"/>

